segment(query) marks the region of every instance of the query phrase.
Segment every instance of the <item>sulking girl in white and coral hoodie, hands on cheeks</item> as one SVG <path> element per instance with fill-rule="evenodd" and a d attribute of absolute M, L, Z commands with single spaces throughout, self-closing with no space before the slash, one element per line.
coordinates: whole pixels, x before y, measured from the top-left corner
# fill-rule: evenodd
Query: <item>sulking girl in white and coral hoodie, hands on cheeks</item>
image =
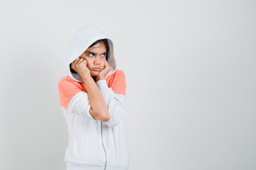
<path fill-rule="evenodd" d="M 69 131 L 67 170 L 128 170 L 126 79 L 116 68 L 112 40 L 95 26 L 80 27 L 64 67 L 58 91 Z"/>

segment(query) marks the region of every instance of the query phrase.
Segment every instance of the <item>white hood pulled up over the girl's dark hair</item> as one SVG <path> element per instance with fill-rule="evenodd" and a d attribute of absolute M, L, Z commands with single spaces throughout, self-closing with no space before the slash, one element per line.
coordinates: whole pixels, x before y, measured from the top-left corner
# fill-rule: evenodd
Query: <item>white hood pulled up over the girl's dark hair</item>
<path fill-rule="evenodd" d="M 114 73 L 116 70 L 116 63 L 113 53 L 112 40 L 110 40 L 110 38 L 101 32 L 96 26 L 84 25 L 76 29 L 67 46 L 64 60 L 65 74 L 77 82 L 83 82 L 83 79 L 79 74 L 70 72 L 70 63 L 83 54 L 83 52 L 88 49 L 92 43 L 105 38 L 108 39 L 109 45 L 109 56 L 107 62 L 111 67 L 111 70 L 108 72 L 105 78 Z"/>

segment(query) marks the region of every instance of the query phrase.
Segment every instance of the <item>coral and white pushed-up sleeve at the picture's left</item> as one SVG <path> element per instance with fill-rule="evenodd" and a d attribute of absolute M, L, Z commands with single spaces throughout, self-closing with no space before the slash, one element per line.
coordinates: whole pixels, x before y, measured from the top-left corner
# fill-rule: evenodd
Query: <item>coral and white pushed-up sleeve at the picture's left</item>
<path fill-rule="evenodd" d="M 58 82 L 60 104 L 70 113 L 78 114 L 95 120 L 90 114 L 91 108 L 88 93 L 82 91 L 79 83 L 68 77 L 62 78 Z"/>

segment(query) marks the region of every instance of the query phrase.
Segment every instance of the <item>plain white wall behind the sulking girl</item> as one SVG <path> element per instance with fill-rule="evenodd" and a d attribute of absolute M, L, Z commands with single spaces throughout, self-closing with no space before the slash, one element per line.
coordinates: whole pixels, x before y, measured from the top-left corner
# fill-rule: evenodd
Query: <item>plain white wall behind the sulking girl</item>
<path fill-rule="evenodd" d="M 72 33 L 126 75 L 129 170 L 256 169 L 256 1 L 0 2 L 0 169 L 65 170 L 58 98 Z"/>

